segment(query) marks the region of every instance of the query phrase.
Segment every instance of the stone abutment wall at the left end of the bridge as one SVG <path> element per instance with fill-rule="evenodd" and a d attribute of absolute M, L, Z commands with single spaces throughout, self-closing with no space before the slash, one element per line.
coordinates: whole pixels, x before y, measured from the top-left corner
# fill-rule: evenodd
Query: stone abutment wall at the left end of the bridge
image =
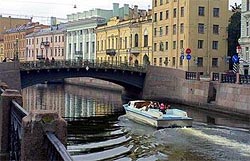
<path fill-rule="evenodd" d="M 1 62 L 0 80 L 6 82 L 11 89 L 21 89 L 19 62 Z"/>

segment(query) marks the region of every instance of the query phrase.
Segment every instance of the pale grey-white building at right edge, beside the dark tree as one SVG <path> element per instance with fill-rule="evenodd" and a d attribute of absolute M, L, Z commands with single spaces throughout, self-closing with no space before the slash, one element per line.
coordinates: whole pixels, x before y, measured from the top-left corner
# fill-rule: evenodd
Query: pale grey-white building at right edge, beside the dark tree
<path fill-rule="evenodd" d="M 240 56 L 240 74 L 248 75 L 250 73 L 250 1 L 242 0 L 241 7 L 241 36 L 239 39 L 241 46 Z"/>

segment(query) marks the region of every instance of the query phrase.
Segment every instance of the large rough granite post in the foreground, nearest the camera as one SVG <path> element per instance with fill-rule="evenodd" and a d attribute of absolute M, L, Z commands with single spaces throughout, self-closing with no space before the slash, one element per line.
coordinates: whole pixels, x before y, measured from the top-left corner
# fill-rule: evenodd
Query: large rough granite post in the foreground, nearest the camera
<path fill-rule="evenodd" d="M 66 145 L 67 124 L 57 112 L 32 111 L 22 120 L 21 161 L 47 161 L 45 133 L 53 132 Z"/>

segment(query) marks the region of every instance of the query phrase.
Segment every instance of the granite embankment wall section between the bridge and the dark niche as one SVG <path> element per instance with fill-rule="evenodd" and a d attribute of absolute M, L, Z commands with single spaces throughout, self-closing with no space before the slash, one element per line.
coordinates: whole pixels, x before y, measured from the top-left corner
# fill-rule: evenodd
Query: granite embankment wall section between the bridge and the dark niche
<path fill-rule="evenodd" d="M 149 67 L 144 89 L 144 99 L 174 101 L 176 103 L 206 103 L 209 82 L 186 80 L 182 70 Z"/>

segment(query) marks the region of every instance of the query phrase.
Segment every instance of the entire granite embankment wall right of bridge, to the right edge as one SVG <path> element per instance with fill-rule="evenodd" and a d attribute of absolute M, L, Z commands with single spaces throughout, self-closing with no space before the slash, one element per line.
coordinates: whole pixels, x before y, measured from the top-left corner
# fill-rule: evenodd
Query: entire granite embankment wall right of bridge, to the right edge
<path fill-rule="evenodd" d="M 143 98 L 250 116 L 250 85 L 186 80 L 176 69 L 149 67 Z"/>

